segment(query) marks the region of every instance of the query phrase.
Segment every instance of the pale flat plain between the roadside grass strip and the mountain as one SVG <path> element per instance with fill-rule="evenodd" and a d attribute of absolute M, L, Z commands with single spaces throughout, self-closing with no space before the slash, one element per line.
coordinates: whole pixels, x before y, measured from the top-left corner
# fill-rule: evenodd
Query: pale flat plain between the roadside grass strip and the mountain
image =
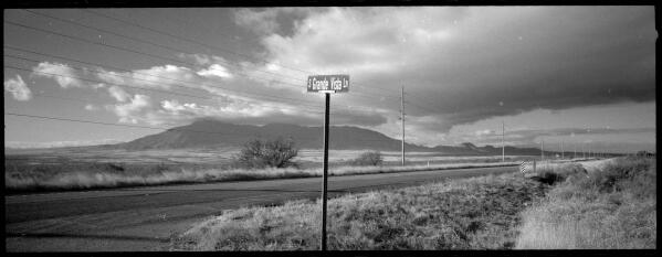
<path fill-rule="evenodd" d="M 240 148 L 191 148 L 165 150 L 107 150 L 107 149 L 24 149 L 6 153 L 6 160 L 21 164 L 59 164 L 59 163 L 116 163 L 116 164 L 206 164 L 214 167 L 229 165 Z M 372 150 L 329 150 L 329 162 L 343 165 L 359 154 Z M 386 165 L 400 164 L 400 152 L 382 151 Z M 294 161 L 304 168 L 318 167 L 323 151 L 319 149 L 301 149 Z M 535 157 L 506 156 L 506 161 L 533 160 Z M 448 156 L 439 152 L 407 152 L 410 164 L 440 164 L 458 162 L 498 162 L 501 156 Z"/>

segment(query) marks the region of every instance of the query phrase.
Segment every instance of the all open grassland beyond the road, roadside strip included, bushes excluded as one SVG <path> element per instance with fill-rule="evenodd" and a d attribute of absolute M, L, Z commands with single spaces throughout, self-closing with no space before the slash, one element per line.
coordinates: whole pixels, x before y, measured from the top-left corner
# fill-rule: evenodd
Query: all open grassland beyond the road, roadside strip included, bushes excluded
<path fill-rule="evenodd" d="M 10 192 L 62 191 L 98 188 L 157 185 L 306 178 L 322 175 L 322 151 L 303 149 L 294 159 L 298 168 L 246 170 L 231 164 L 238 148 L 176 150 L 59 149 L 18 150 L 6 154 L 4 188 Z M 359 150 L 329 152 L 332 175 L 421 171 L 473 167 L 514 165 L 532 157 L 449 157 L 434 152 L 407 153 L 400 165 L 399 152 L 382 152 L 381 167 L 350 167 Z"/>

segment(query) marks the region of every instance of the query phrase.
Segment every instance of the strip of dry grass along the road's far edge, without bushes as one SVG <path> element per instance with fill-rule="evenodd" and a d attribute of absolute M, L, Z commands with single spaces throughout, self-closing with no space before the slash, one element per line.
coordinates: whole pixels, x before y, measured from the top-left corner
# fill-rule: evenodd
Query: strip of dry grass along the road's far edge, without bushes
<path fill-rule="evenodd" d="M 509 163 L 455 163 L 413 167 L 339 167 L 330 175 L 370 174 L 385 172 L 424 171 L 458 168 L 501 167 Z M 209 169 L 181 165 L 137 165 L 113 163 L 83 164 L 4 164 L 4 189 L 8 191 L 59 191 L 170 183 L 243 181 L 321 176 L 322 169 L 267 168 Z"/>

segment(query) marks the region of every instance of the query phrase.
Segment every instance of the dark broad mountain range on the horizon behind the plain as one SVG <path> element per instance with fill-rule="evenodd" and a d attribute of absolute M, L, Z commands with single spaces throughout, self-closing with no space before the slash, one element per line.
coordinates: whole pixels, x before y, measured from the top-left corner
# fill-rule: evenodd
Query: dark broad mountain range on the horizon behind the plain
<path fill-rule="evenodd" d="M 147 150 L 177 148 L 213 148 L 241 147 L 255 139 L 291 138 L 298 148 L 319 149 L 323 147 L 323 128 L 304 127 L 287 124 L 270 124 L 265 126 L 233 125 L 217 120 L 202 119 L 187 126 L 169 129 L 156 135 L 146 136 L 129 142 L 98 146 L 102 148 Z M 330 127 L 329 149 L 333 150 L 380 150 L 399 151 L 400 140 L 389 138 L 380 132 L 350 126 Z M 500 154 L 502 149 L 492 146 L 476 147 L 465 142 L 460 146 L 423 147 L 406 143 L 407 151 L 440 152 L 442 154 Z M 506 147 L 507 154 L 539 154 L 536 148 Z"/>

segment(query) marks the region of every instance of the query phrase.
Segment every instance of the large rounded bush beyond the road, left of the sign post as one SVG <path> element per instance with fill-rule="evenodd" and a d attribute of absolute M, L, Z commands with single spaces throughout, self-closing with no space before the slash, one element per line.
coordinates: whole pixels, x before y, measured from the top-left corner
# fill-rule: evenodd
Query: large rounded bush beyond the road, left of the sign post
<path fill-rule="evenodd" d="M 295 148 L 294 141 L 291 139 L 253 139 L 244 144 L 239 156 L 234 158 L 234 162 L 249 169 L 297 167 L 292 161 L 297 153 L 298 149 Z"/>

